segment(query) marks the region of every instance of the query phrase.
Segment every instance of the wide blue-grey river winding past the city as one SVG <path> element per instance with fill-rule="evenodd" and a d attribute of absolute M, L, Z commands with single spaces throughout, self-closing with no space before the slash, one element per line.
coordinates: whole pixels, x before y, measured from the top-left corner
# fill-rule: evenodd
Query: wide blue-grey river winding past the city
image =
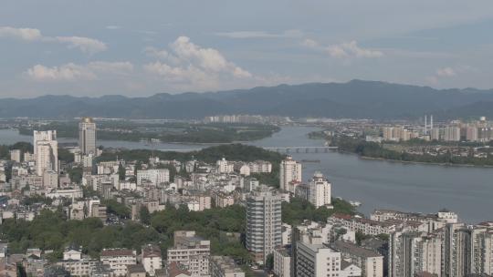
<path fill-rule="evenodd" d="M 249 144 L 258 147 L 322 146 L 322 140 L 308 139 L 317 128 L 286 127 L 271 138 Z M 0 130 L 0 144 L 31 141 L 16 130 Z M 58 139 L 60 142 L 74 139 Z M 149 149 L 140 142 L 98 141 L 105 147 Z M 156 149 L 200 149 L 205 145 L 161 143 Z M 318 159 L 303 163 L 303 180 L 319 170 L 332 183 L 332 195 L 362 202 L 360 210 L 374 209 L 436 212 L 446 208 L 456 211 L 463 221 L 493 220 L 493 169 L 404 164 L 383 160 L 360 159 L 355 155 L 329 153 L 296 153 L 294 159 Z"/>

